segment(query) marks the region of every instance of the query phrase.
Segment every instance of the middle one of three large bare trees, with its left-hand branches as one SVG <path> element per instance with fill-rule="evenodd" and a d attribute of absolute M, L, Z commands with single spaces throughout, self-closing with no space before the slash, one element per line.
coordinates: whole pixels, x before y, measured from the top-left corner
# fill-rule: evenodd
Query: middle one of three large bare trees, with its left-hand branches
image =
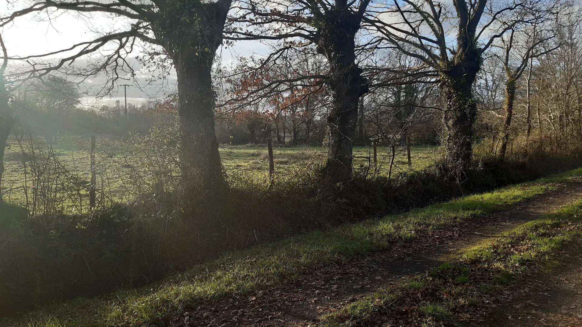
<path fill-rule="evenodd" d="M 331 92 L 331 109 L 327 115 L 328 159 L 322 171 L 338 182 L 352 177 L 358 102 L 368 92 L 368 80 L 357 62 L 357 52 L 362 48 L 357 35 L 364 29 L 364 16 L 370 2 L 247 0 L 240 5 L 235 22 L 250 24 L 251 29 L 235 28 L 226 37 L 230 40 L 285 40 L 269 59 L 279 58 L 292 48 L 313 45 L 318 54 L 327 59 L 328 73 L 324 80 Z M 296 80 L 308 78 L 311 77 Z M 287 82 L 291 81 L 279 83 Z"/>

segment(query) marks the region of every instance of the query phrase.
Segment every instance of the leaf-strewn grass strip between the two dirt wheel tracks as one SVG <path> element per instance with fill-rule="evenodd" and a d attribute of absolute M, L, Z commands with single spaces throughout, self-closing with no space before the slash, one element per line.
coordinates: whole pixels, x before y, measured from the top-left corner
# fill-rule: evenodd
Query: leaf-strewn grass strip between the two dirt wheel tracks
<path fill-rule="evenodd" d="M 319 327 L 457 326 L 480 321 L 480 305 L 582 234 L 582 200 L 467 248 L 453 261 L 321 317 Z M 501 293 L 503 294 L 503 293 Z"/>

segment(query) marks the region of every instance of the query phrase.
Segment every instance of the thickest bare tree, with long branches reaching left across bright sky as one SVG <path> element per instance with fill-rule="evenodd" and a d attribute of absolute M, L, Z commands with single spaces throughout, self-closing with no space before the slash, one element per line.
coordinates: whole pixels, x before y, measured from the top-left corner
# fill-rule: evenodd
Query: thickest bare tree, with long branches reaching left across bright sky
<path fill-rule="evenodd" d="M 67 54 L 54 64 L 34 65 L 34 71 L 42 76 L 100 51 L 100 54 L 105 55 L 104 58 L 88 73 L 108 70 L 113 83 L 120 78 L 119 70 L 129 66 L 127 55 L 139 48 L 139 42 L 151 45 L 153 50 L 150 54 L 169 58 L 178 76 L 184 182 L 192 185 L 198 184 L 198 181 L 203 192 L 211 194 L 208 191 L 221 190 L 225 183 L 214 129 L 215 93 L 212 90 L 211 69 L 217 49 L 222 44 L 223 28 L 231 2 L 33 0 L 27 8 L 4 17 L 1 26 L 7 26 L 18 17 L 38 12 L 58 19 L 56 16 L 63 11 L 101 13 L 132 21 L 125 30 L 111 30 L 67 49 L 15 59 L 30 60 Z M 114 47 L 109 50 L 111 45 Z"/>

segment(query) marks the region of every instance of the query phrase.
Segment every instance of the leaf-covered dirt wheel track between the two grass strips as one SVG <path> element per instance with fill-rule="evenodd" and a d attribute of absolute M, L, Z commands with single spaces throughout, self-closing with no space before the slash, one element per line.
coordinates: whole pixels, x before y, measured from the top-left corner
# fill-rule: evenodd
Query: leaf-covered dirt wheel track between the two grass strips
<path fill-rule="evenodd" d="M 582 184 L 562 187 L 511 205 L 503 212 L 433 230 L 342 265 L 314 269 L 281 285 L 198 305 L 168 319 L 165 325 L 307 326 L 321 314 L 343 307 L 378 287 L 438 265 L 447 255 L 463 247 L 537 219 L 579 198 L 582 198 Z"/>

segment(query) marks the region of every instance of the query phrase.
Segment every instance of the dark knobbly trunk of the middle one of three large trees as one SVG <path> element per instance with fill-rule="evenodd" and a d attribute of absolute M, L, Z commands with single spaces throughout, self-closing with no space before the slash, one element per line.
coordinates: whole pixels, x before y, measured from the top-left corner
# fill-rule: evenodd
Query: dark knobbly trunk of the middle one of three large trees
<path fill-rule="evenodd" d="M 368 81 L 356 65 L 355 38 L 360 17 L 347 9 L 327 12 L 319 29 L 318 52 L 329 62 L 328 159 L 324 175 L 335 182 L 352 178 L 353 143 L 356 137 L 358 102 L 368 93 Z"/>

